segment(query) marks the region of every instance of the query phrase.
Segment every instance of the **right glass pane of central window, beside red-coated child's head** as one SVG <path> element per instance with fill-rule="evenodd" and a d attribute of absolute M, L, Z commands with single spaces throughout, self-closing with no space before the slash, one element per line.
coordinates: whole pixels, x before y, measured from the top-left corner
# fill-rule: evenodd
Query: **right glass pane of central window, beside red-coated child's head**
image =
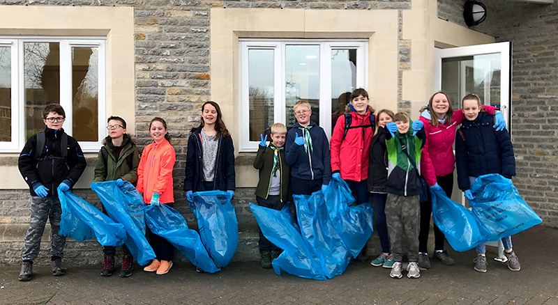
<path fill-rule="evenodd" d="M 356 49 L 331 50 L 331 133 L 356 87 Z"/>

